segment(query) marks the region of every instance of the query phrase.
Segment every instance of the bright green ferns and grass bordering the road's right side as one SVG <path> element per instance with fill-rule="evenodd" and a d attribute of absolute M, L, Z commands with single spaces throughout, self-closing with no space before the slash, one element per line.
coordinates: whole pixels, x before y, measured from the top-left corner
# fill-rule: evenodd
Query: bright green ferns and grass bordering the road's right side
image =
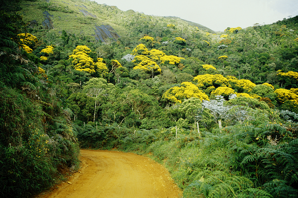
<path fill-rule="evenodd" d="M 184 198 L 298 195 L 298 126 L 293 123 L 234 125 L 200 135 L 183 129 L 177 138 L 175 128 L 138 130 L 115 125 L 96 130 L 86 125 L 84 129 L 78 130 L 84 148 L 117 148 L 163 163 Z"/>

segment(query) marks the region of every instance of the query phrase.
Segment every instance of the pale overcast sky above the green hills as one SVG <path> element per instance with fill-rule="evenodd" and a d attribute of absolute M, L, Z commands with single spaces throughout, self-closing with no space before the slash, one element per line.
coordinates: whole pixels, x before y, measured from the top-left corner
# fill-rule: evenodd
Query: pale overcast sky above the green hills
<path fill-rule="evenodd" d="M 271 24 L 298 15 L 298 0 L 95 0 L 155 16 L 177 16 L 214 31 Z"/>

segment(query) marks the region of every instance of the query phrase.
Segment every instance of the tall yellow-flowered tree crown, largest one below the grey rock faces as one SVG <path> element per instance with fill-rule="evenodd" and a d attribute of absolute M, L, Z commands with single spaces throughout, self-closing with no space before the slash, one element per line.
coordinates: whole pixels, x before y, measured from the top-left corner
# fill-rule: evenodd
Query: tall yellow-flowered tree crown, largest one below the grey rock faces
<path fill-rule="evenodd" d="M 70 60 L 74 69 L 77 71 L 85 71 L 90 74 L 95 73 L 93 59 L 88 55 L 91 50 L 86 46 L 77 46 L 73 54 L 70 55 Z"/>

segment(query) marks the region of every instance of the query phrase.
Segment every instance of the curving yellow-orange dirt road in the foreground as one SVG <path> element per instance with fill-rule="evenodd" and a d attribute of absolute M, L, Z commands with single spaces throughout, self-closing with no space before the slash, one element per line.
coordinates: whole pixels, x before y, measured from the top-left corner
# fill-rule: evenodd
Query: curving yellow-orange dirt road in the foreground
<path fill-rule="evenodd" d="M 38 198 L 181 198 L 168 171 L 153 160 L 110 150 L 81 150 L 82 167 Z"/>

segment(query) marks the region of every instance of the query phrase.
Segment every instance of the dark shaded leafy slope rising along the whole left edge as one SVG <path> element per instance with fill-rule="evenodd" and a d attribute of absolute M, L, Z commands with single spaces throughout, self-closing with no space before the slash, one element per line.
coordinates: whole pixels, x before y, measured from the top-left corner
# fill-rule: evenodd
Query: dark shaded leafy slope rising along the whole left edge
<path fill-rule="evenodd" d="M 75 170 L 79 150 L 71 111 L 61 108 L 38 58 L 18 48 L 37 38 L 19 34 L 18 14 L 1 9 L 0 21 L 0 197 L 29 197 L 49 188 L 62 168 Z"/>

